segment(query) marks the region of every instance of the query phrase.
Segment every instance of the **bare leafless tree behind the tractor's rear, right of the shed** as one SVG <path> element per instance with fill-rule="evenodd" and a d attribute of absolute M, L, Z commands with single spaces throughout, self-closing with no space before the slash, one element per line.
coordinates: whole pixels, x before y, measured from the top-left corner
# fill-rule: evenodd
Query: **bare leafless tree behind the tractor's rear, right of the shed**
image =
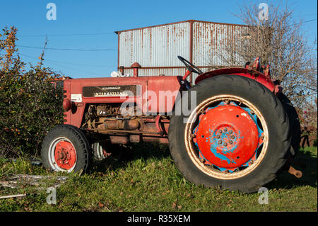
<path fill-rule="evenodd" d="M 285 95 L 303 108 L 312 102 L 310 98 L 317 98 L 317 43 L 307 41 L 302 31 L 305 22 L 295 19 L 290 6 L 268 6 L 267 18 L 260 15 L 264 11 L 259 4 L 239 6 L 234 15 L 248 27 L 220 57 L 228 67 L 242 67 L 261 57 L 262 64 L 270 64 L 272 78 L 281 81 Z"/>

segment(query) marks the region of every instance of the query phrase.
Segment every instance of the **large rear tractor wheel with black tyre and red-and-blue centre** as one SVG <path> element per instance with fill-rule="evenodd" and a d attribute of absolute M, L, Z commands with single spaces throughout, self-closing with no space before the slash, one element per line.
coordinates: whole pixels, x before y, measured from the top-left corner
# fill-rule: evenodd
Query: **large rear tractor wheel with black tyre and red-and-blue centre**
<path fill-rule="evenodd" d="M 184 177 L 232 191 L 258 191 L 287 160 L 288 116 L 281 101 L 252 79 L 219 75 L 201 81 L 177 101 L 196 107 L 170 120 L 170 153 Z"/>

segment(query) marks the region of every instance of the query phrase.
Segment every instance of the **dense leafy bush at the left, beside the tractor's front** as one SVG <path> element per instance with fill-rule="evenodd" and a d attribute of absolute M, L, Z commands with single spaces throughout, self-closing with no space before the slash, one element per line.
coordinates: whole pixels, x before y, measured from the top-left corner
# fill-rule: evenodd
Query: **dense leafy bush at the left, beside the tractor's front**
<path fill-rule="evenodd" d="M 48 130 L 63 123 L 61 87 L 52 79 L 59 74 L 40 62 L 28 72 L 16 52 L 16 28 L 4 29 L 0 45 L 0 156 L 36 155 Z M 1 52 L 5 51 L 5 55 Z"/>

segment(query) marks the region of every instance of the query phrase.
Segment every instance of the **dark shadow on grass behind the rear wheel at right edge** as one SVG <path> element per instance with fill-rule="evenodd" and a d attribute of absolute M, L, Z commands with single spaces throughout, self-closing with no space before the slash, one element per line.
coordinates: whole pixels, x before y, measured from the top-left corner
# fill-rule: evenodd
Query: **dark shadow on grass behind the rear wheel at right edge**
<path fill-rule="evenodd" d="M 266 185 L 266 188 L 290 189 L 300 186 L 317 188 L 317 157 L 313 157 L 312 153 L 307 151 L 298 152 L 295 159 L 300 160 L 301 163 L 306 165 L 305 169 L 300 166 L 294 166 L 295 169 L 302 171 L 302 177 L 298 179 L 292 174 L 289 174 L 288 170 L 283 170 L 274 181 Z"/>

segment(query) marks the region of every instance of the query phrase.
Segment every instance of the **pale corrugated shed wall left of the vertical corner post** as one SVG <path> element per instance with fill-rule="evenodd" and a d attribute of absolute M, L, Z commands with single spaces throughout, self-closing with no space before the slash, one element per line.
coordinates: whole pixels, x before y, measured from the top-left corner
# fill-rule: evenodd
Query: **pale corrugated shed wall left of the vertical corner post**
<path fill-rule="evenodd" d="M 130 67 L 139 62 L 139 75 L 183 74 L 184 69 L 158 69 L 153 67 L 183 67 L 177 55 L 189 58 L 189 22 L 172 23 L 118 32 L 119 66 Z M 129 73 L 131 70 L 126 70 Z M 129 73 L 132 74 L 132 71 Z"/>

